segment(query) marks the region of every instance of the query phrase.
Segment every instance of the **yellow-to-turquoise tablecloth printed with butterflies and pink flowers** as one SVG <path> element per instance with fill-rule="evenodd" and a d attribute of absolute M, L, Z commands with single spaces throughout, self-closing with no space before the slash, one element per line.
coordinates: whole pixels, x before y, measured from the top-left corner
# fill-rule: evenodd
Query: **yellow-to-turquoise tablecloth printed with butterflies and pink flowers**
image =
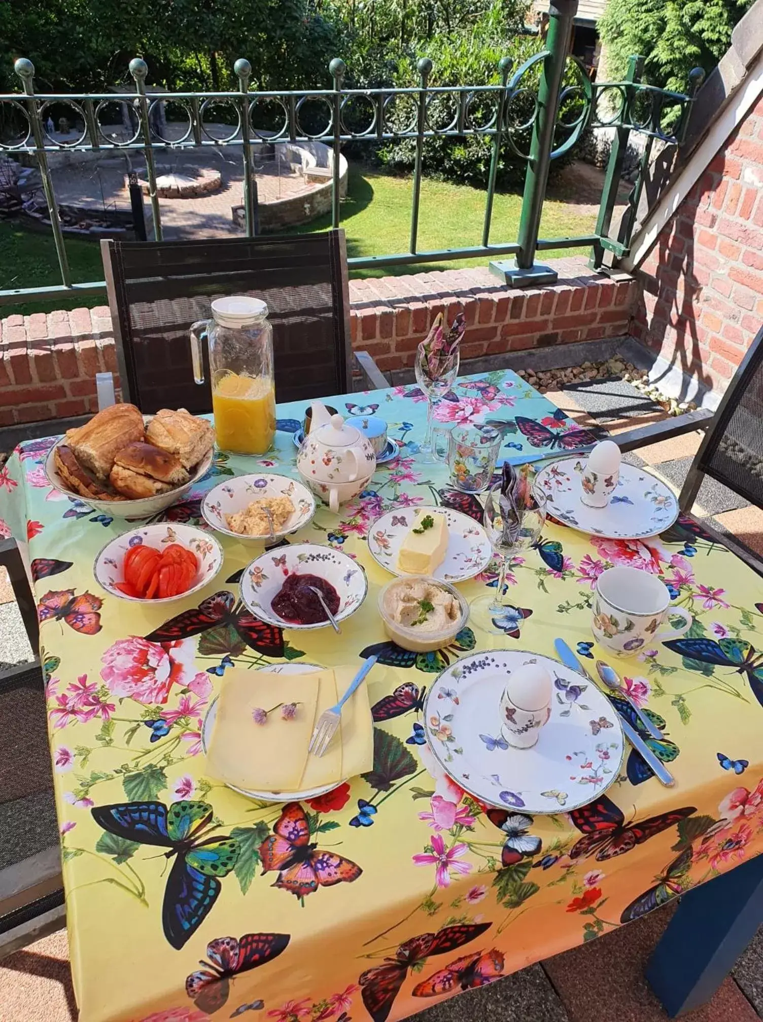
<path fill-rule="evenodd" d="M 404 514 L 448 501 L 468 513 L 475 502 L 448 492 L 444 465 L 417 460 L 425 415 L 417 388 L 330 403 L 377 411 L 400 444 L 400 457 L 340 515 L 320 506 L 289 538 L 329 544 L 365 567 L 368 597 L 340 639 L 252 618 L 237 576 L 259 550 L 227 540 L 223 571 L 200 598 L 162 609 L 116 600 L 99 590 L 92 564 L 126 523 L 50 489 L 42 467 L 50 440 L 23 445 L 0 471 L 2 527 L 29 540 L 43 618 L 81 1022 L 400 1019 L 601 936 L 763 850 L 760 578 L 688 519 L 632 543 L 549 522 L 511 565 L 501 636 L 469 624 L 442 652 L 407 653 L 386 641 L 376 613 L 389 576 L 368 555 L 368 530 L 393 507 Z M 226 475 L 296 475 L 290 431 L 305 407 L 279 408 L 272 455 L 220 455 L 165 519 L 197 521 L 199 495 Z M 458 381 L 437 410 L 446 422 L 486 415 L 517 423 L 509 453 L 579 440 L 569 439 L 574 424 L 510 372 Z M 592 665 L 600 655 L 592 588 L 610 564 L 659 574 L 694 615 L 682 639 L 616 663 L 632 698 L 664 726 L 654 747 L 675 788 L 662 787 L 635 753 L 619 770 L 608 763 L 602 743 L 600 762 L 571 762 L 569 779 L 548 793 L 555 815 L 533 818 L 521 799 L 486 810 L 437 769 L 424 727 L 447 738 L 451 696 L 438 693 L 424 722 L 424 690 L 466 651 L 553 655 L 557 636 Z M 488 570 L 460 589 L 473 599 L 495 580 Z M 231 664 L 330 666 L 370 651 L 379 654 L 369 676 L 371 772 L 287 805 L 250 801 L 206 774 L 201 723 Z M 585 714 L 584 691 L 555 695 Z M 609 797 L 566 814 L 570 792 L 601 770 L 618 771 Z"/>

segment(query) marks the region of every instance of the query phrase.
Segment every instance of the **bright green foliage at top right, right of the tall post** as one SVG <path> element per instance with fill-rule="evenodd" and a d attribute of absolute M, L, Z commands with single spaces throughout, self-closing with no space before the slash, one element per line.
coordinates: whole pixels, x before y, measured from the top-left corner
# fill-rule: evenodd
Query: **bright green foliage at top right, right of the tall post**
<path fill-rule="evenodd" d="M 625 74 L 628 57 L 644 57 L 643 81 L 684 92 L 692 67 L 711 72 L 752 0 L 609 0 L 598 24 L 607 77 Z"/>

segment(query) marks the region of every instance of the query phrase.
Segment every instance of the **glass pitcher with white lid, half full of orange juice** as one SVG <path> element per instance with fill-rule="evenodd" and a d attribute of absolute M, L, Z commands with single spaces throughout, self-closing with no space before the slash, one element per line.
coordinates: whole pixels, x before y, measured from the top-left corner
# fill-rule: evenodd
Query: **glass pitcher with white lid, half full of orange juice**
<path fill-rule="evenodd" d="M 207 340 L 217 446 L 232 454 L 265 454 L 275 435 L 273 328 L 259 298 L 215 298 L 212 319 L 190 328 L 193 376 L 204 383 Z"/>

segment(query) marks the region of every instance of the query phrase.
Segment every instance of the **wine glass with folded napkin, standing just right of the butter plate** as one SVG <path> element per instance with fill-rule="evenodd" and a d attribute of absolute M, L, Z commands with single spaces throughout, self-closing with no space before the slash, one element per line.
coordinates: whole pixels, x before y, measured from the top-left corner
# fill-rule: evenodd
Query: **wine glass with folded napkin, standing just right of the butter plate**
<path fill-rule="evenodd" d="M 507 508 L 505 499 L 501 501 L 501 483 L 494 485 L 488 493 L 484 523 L 493 556 L 499 562 L 498 588 L 494 596 L 480 597 L 474 601 L 472 615 L 480 628 L 496 634 L 513 631 L 510 625 L 519 628 L 519 619 L 509 620 L 512 606 L 504 595 L 506 571 L 514 557 L 531 549 L 540 539 L 546 521 L 545 495 L 530 486 L 515 498 L 515 514 L 504 513 Z"/>

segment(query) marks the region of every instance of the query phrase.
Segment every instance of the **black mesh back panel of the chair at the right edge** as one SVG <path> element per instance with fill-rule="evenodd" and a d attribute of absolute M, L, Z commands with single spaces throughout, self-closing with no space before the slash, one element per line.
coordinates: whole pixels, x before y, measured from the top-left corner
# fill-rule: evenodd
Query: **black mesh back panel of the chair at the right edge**
<path fill-rule="evenodd" d="M 691 472 L 704 472 L 763 507 L 763 327 L 723 396 Z"/>

